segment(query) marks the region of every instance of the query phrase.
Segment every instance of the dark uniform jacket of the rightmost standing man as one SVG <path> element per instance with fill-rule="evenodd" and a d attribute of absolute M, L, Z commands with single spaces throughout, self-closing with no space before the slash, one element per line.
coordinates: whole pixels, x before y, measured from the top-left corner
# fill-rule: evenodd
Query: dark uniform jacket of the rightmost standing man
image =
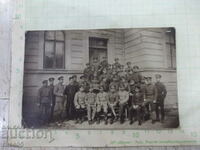
<path fill-rule="evenodd" d="M 155 86 L 157 89 L 157 100 L 164 99 L 167 95 L 167 90 L 165 85 L 162 82 L 156 82 Z"/>

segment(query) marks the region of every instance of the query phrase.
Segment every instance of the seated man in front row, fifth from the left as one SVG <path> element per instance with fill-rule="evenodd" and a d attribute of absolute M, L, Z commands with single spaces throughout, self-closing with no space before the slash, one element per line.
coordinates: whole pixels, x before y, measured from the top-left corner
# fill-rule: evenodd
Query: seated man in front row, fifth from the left
<path fill-rule="evenodd" d="M 120 117 L 120 123 L 122 124 L 125 119 L 124 110 L 129 100 L 129 93 L 125 90 L 123 84 L 120 85 L 118 94 L 119 94 L 119 117 Z"/>

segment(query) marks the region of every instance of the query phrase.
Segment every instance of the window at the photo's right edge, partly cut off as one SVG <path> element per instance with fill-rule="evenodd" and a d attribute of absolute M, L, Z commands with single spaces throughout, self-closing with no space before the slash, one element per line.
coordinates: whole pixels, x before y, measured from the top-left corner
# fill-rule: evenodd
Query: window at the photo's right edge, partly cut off
<path fill-rule="evenodd" d="M 166 34 L 166 50 L 167 50 L 167 67 L 176 68 L 176 41 L 175 41 L 175 29 L 169 28 L 165 32 Z"/>

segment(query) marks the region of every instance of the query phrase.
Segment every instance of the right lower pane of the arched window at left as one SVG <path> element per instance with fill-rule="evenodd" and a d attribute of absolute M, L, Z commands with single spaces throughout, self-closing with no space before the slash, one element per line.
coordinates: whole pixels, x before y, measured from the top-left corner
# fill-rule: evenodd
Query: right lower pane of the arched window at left
<path fill-rule="evenodd" d="M 64 68 L 64 42 L 56 43 L 56 68 Z"/>

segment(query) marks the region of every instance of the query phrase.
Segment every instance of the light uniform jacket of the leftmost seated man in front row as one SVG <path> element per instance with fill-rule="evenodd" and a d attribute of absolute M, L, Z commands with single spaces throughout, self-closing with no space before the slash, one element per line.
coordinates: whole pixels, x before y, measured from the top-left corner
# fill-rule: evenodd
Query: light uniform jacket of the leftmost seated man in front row
<path fill-rule="evenodd" d="M 86 102 L 85 102 L 85 98 L 86 98 L 86 93 L 85 92 L 77 92 L 75 94 L 75 97 L 74 97 L 74 105 L 75 107 L 77 106 L 81 106 L 81 108 L 85 108 L 86 106 Z"/>

